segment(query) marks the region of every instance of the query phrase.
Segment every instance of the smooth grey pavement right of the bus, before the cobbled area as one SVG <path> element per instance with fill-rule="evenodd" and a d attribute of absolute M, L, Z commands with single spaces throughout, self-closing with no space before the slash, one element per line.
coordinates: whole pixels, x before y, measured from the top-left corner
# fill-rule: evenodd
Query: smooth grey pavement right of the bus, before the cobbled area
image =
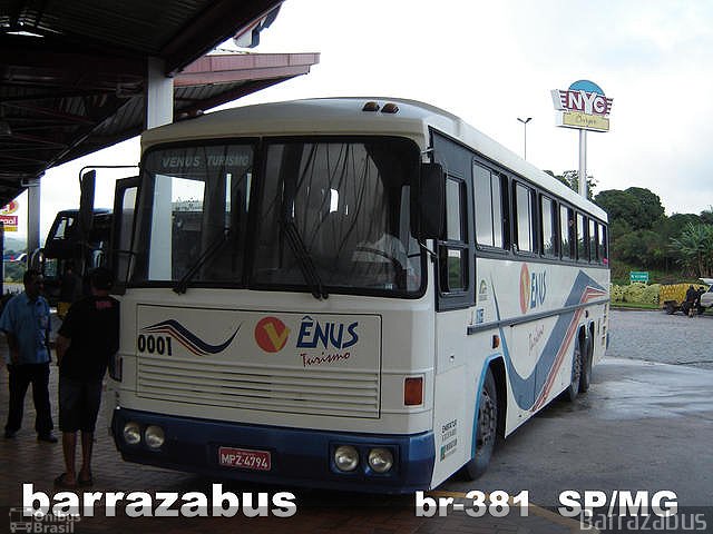
<path fill-rule="evenodd" d="M 586 395 L 555 400 L 496 451 L 478 487 L 528 490 L 548 507 L 565 490 L 665 490 L 713 512 L 711 444 L 713 370 L 607 357 Z"/>

